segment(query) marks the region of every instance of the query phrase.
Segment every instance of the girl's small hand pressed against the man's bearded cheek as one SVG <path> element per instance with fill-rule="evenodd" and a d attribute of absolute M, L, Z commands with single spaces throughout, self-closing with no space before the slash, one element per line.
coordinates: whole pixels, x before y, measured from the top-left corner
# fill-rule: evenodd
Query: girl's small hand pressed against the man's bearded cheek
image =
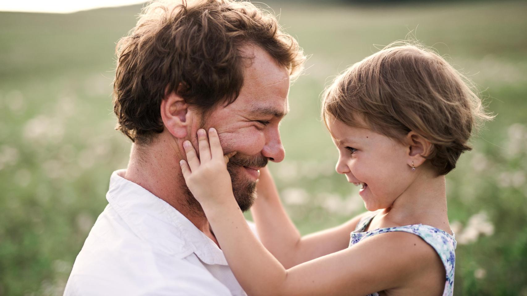
<path fill-rule="evenodd" d="M 188 161 L 179 162 L 183 178 L 201 206 L 217 206 L 233 200 L 231 178 L 227 171 L 227 162 L 233 154 L 223 155 L 216 129 L 209 129 L 208 139 L 204 129 L 198 130 L 199 158 L 190 141 L 184 141 L 183 148 Z"/>

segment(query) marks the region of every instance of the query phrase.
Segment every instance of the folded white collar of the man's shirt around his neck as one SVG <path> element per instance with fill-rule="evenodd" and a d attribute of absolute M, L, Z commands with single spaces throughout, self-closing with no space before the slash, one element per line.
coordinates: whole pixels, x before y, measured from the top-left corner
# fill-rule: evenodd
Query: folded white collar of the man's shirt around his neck
<path fill-rule="evenodd" d="M 136 236 L 172 256 L 184 258 L 195 253 L 204 263 L 227 265 L 216 243 L 167 202 L 124 179 L 125 172 L 112 173 L 106 199 Z"/>

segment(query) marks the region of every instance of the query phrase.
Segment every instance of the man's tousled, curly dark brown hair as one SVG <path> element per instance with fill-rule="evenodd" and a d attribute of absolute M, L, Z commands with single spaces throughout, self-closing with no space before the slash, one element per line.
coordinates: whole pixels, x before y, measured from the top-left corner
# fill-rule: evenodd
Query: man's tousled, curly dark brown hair
<path fill-rule="evenodd" d="M 247 45 L 264 49 L 293 78 L 303 67 L 296 40 L 250 2 L 149 3 L 116 47 L 115 129 L 149 143 L 163 131 L 160 104 L 172 91 L 203 112 L 231 104 L 243 85 L 241 50 Z"/>

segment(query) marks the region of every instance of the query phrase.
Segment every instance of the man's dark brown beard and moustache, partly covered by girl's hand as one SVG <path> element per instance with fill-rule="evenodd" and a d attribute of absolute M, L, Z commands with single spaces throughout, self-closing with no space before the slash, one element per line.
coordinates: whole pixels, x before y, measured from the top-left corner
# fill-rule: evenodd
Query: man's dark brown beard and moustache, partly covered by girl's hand
<path fill-rule="evenodd" d="M 241 211 L 245 212 L 249 210 L 256 199 L 256 184 L 257 181 L 247 179 L 245 175 L 245 167 L 265 167 L 268 162 L 268 158 L 257 156 L 257 157 L 242 157 L 236 154 L 231 157 L 227 163 L 227 171 L 232 180 L 232 193 Z M 183 184 L 184 181 L 183 181 Z M 187 196 L 187 206 L 189 210 L 194 212 L 196 216 L 204 214 L 200 203 L 194 198 L 192 192 L 190 192 L 187 185 L 184 185 Z"/>

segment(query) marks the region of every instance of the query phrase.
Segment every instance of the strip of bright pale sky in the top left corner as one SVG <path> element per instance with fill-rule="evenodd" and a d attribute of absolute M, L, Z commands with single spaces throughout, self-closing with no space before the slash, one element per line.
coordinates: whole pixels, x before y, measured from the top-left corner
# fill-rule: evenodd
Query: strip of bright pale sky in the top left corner
<path fill-rule="evenodd" d="M 124 6 L 146 0 L 0 0 L 0 11 L 71 13 L 99 7 Z"/>

